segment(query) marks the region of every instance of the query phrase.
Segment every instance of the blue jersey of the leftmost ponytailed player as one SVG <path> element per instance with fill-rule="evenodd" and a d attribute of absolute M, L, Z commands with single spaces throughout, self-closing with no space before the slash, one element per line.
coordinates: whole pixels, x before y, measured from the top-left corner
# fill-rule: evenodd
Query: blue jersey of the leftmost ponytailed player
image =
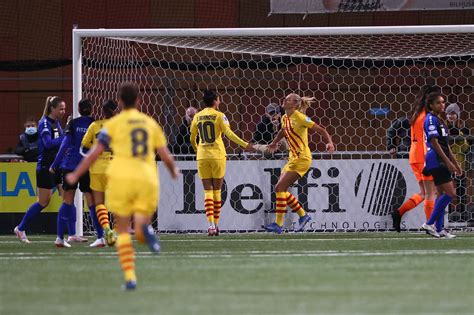
<path fill-rule="evenodd" d="M 48 116 L 43 117 L 38 123 L 38 166 L 37 169 L 49 169 L 58 153 L 63 139 L 63 130 L 59 120 Z"/>

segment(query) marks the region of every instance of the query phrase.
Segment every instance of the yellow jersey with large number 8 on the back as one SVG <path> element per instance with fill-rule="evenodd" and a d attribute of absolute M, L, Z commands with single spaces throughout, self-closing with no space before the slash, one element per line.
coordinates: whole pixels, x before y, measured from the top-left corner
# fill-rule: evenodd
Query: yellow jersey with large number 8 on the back
<path fill-rule="evenodd" d="M 157 180 L 155 150 L 166 146 L 158 123 L 135 108 L 125 109 L 104 124 L 99 142 L 114 152 L 109 177 Z"/>

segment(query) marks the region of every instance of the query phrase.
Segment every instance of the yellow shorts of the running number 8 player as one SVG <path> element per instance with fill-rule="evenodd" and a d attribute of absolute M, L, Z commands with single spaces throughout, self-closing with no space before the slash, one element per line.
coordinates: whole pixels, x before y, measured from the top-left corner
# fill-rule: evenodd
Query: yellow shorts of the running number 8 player
<path fill-rule="evenodd" d="M 159 185 L 139 179 L 109 177 L 105 202 L 110 211 L 121 217 L 135 213 L 153 215 L 159 197 Z"/>

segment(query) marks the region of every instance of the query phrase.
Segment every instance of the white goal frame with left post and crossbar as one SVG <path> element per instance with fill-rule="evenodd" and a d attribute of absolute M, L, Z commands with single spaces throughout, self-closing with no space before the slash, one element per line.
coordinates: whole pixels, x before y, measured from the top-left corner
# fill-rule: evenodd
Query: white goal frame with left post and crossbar
<path fill-rule="evenodd" d="M 79 29 L 72 30 L 73 117 L 79 116 L 82 95 L 82 39 L 87 37 L 223 37 L 223 36 L 334 36 L 474 33 L 474 25 L 290 27 L 290 28 L 189 28 L 189 29 Z M 77 191 L 77 235 L 83 234 L 83 196 Z"/>

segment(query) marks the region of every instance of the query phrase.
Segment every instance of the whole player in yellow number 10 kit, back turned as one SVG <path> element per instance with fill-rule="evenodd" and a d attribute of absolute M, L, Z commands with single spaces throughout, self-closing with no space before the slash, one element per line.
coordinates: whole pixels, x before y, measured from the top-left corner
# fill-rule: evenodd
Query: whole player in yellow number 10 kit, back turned
<path fill-rule="evenodd" d="M 222 135 L 248 151 L 253 146 L 240 139 L 229 126 L 229 120 L 219 111 L 220 97 L 212 90 L 205 90 L 205 109 L 198 112 L 191 122 L 191 145 L 196 152 L 199 178 L 204 186 L 204 209 L 209 228 L 207 235 L 219 235 L 219 217 L 222 207 L 221 187 L 226 168 L 226 151 Z M 199 134 L 199 144 L 197 136 Z"/>

